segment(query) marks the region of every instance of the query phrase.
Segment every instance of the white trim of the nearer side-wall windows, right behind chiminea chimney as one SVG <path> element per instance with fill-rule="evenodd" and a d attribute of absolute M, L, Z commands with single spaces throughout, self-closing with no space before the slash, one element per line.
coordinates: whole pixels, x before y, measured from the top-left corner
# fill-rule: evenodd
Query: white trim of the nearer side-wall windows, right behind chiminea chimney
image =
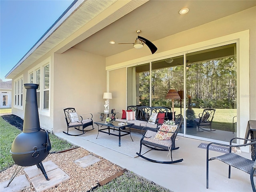
<path fill-rule="evenodd" d="M 51 93 L 51 78 L 49 78 L 49 109 L 44 109 L 44 66 L 49 64 L 49 77 L 51 77 L 51 58 L 47 58 L 44 61 L 40 62 L 38 65 L 34 66 L 28 70 L 28 81 L 30 81 L 30 74 L 33 73 L 33 80 L 36 81 L 36 71 L 40 69 L 40 108 L 38 108 L 38 113 L 40 115 L 50 116 L 50 93 Z M 31 83 L 31 82 L 29 82 Z M 36 82 L 33 82 L 36 83 Z"/>

